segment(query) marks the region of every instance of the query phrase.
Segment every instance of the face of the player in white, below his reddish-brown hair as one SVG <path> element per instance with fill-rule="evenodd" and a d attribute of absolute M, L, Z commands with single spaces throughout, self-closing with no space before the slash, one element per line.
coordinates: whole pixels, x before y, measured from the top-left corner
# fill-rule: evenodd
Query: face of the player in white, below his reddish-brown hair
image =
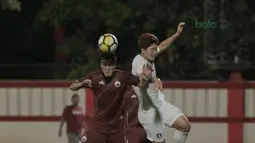
<path fill-rule="evenodd" d="M 142 55 L 149 61 L 154 61 L 157 54 L 157 44 L 152 44 L 149 48 L 142 49 Z"/>

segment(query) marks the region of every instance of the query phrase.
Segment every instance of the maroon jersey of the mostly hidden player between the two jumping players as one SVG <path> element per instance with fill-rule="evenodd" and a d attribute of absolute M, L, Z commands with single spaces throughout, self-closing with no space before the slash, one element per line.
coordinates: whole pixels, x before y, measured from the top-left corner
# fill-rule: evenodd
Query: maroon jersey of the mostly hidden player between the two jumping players
<path fill-rule="evenodd" d="M 124 128 L 141 127 L 142 125 L 138 120 L 139 100 L 135 95 L 132 86 L 129 86 L 126 89 L 124 103 Z"/>

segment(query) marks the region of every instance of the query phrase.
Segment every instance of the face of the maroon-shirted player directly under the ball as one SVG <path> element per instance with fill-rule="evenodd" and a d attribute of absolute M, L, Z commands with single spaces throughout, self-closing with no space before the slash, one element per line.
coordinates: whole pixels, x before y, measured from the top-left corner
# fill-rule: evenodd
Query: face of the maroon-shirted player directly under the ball
<path fill-rule="evenodd" d="M 112 74 L 115 70 L 115 62 L 114 61 L 102 60 L 100 66 L 101 66 L 104 76 L 106 76 L 106 77 L 112 76 Z"/>

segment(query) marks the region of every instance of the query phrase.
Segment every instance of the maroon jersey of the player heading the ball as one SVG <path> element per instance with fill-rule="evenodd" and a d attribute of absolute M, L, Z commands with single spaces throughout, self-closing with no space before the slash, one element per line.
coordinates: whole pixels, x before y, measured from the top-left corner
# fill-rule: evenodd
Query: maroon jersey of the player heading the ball
<path fill-rule="evenodd" d="M 96 121 L 97 125 L 100 124 L 99 130 L 105 133 L 121 129 L 125 90 L 130 85 L 138 85 L 139 78 L 129 72 L 116 70 L 111 81 L 107 81 L 100 71 L 90 73 L 81 80 L 85 79 L 92 81 L 92 87 L 87 85 L 85 87 L 91 88 L 95 97 L 96 109 L 91 122 Z"/>

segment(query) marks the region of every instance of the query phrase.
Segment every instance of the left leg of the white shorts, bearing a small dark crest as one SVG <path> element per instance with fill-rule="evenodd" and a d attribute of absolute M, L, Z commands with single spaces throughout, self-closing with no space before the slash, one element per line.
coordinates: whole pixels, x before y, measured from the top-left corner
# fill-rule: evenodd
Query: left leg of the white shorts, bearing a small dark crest
<path fill-rule="evenodd" d="M 138 111 L 138 119 L 142 124 L 147 138 L 154 143 L 162 143 L 165 140 L 165 125 L 164 122 L 155 122 L 155 111 L 152 109 L 149 112 Z"/>

